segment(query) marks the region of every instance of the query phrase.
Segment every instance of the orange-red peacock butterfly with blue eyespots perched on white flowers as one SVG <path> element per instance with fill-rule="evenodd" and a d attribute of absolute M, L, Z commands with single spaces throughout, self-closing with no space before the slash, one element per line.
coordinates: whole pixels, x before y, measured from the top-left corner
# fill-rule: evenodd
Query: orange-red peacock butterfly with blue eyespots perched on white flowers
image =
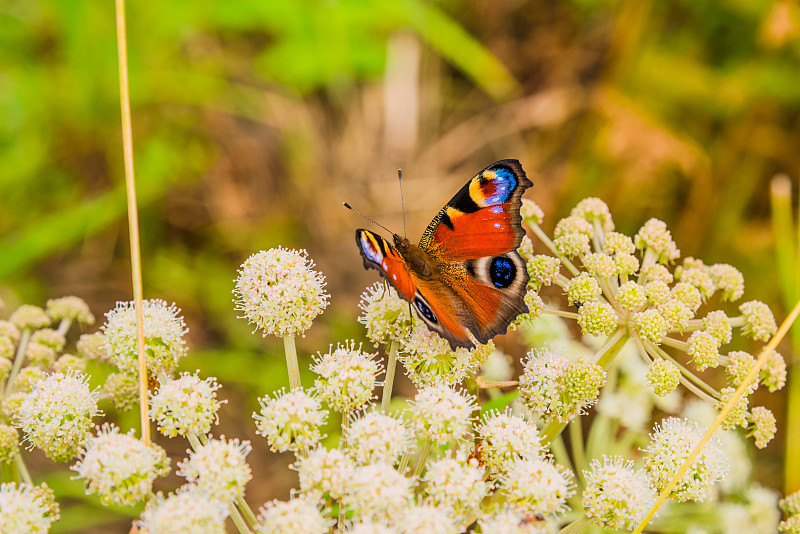
<path fill-rule="evenodd" d="M 533 185 L 517 160 L 479 172 L 434 217 L 419 245 L 356 230 L 364 267 L 377 269 L 452 348 L 504 333 L 520 313 L 528 272 L 516 252 L 519 209 Z"/>

